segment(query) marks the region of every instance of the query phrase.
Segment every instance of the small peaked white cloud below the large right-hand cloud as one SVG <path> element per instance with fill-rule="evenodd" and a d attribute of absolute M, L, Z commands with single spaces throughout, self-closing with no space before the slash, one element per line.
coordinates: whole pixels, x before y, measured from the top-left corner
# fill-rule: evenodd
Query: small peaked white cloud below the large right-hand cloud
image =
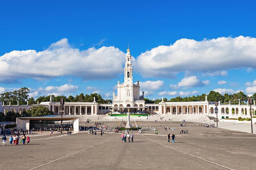
<path fill-rule="evenodd" d="M 190 87 L 201 87 L 204 85 L 208 85 L 210 83 L 209 80 L 203 80 L 200 81 L 196 75 L 193 76 L 189 76 L 189 77 L 184 77 L 183 79 L 181 79 L 180 82 L 178 82 L 178 84 L 174 85 L 171 84 L 170 88 L 171 89 L 179 89 L 179 88 L 190 88 Z"/>

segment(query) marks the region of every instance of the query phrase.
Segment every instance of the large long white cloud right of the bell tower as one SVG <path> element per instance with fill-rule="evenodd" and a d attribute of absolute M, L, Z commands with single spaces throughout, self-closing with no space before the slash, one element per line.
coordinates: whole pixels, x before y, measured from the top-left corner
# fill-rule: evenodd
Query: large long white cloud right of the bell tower
<path fill-rule="evenodd" d="M 196 41 L 177 40 L 142 53 L 137 66 L 143 77 L 174 77 L 177 72 L 206 72 L 227 75 L 228 69 L 256 68 L 256 38 L 219 37 Z M 225 70 L 223 70 L 225 68 Z"/>

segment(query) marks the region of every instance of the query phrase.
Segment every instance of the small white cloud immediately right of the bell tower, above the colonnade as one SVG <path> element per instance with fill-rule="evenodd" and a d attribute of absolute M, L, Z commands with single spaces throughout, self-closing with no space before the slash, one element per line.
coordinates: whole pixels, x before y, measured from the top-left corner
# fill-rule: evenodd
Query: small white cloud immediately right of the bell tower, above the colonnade
<path fill-rule="evenodd" d="M 140 82 L 140 91 L 157 91 L 163 85 L 163 80 Z"/>

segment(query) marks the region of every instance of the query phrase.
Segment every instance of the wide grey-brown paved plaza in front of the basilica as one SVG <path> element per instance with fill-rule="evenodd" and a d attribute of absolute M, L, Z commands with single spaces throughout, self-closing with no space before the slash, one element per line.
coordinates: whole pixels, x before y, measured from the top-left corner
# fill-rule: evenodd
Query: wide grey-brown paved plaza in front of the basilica
<path fill-rule="evenodd" d="M 120 123 L 105 121 L 104 125 L 114 129 Z M 131 123 L 135 125 L 134 120 Z M 122 143 L 121 133 L 109 131 L 103 136 L 87 132 L 70 136 L 66 133 L 54 134 L 51 137 L 46 133 L 29 135 L 29 146 L 0 146 L 0 169 L 8 169 L 15 164 L 19 169 L 27 170 L 254 169 L 256 135 L 207 128 L 192 122 L 186 122 L 187 125 L 181 127 L 181 123 L 138 121 L 139 127 L 156 128 L 158 135 L 154 131 L 134 132 L 133 143 Z M 176 131 L 165 131 L 164 127 L 175 127 Z M 180 129 L 188 130 L 188 134 L 180 134 Z M 175 143 L 167 142 L 168 133 L 176 135 Z"/>

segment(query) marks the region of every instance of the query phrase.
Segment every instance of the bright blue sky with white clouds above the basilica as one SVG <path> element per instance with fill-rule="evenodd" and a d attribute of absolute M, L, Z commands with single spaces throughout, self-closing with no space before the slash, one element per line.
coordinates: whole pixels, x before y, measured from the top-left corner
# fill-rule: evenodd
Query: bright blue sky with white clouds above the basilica
<path fill-rule="evenodd" d="M 133 82 L 149 99 L 256 93 L 256 2 L 1 1 L 0 93 L 99 93 Z"/>

